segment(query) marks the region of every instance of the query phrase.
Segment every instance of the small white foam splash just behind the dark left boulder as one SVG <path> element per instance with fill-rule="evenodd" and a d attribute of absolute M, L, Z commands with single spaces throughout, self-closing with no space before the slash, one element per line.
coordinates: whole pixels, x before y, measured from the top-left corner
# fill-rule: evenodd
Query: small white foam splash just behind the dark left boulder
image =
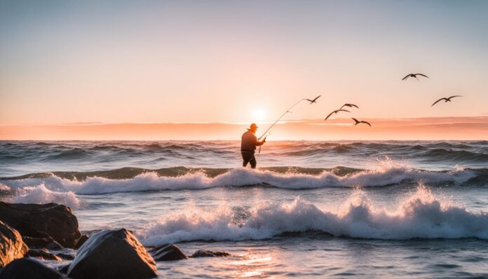
<path fill-rule="evenodd" d="M 13 198 L 14 203 L 59 203 L 69 207 L 79 208 L 81 202 L 71 192 L 51 191 L 44 186 L 27 186 L 19 190 L 19 195 Z"/>

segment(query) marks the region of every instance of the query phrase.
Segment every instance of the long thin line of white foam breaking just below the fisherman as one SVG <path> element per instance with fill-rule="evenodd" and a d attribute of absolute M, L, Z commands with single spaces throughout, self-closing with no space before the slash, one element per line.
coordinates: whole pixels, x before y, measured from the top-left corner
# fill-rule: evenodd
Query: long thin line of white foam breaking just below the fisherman
<path fill-rule="evenodd" d="M 324 171 L 320 175 L 299 173 L 280 174 L 269 170 L 236 168 L 217 177 L 208 177 L 203 172 L 194 172 L 179 177 L 160 177 L 147 172 L 131 179 L 107 179 L 88 177 L 84 181 L 60 177 L 5 180 L 12 188 L 44 184 L 53 191 L 73 191 L 80 194 L 116 193 L 132 191 L 159 191 L 179 189 L 208 189 L 224 186 L 266 185 L 283 189 L 316 189 L 325 187 L 387 186 L 405 181 L 426 183 L 466 182 L 475 176 L 471 170 L 456 168 L 449 172 L 426 172 L 403 165 L 388 163 L 375 170 L 364 170 L 344 177 Z"/>

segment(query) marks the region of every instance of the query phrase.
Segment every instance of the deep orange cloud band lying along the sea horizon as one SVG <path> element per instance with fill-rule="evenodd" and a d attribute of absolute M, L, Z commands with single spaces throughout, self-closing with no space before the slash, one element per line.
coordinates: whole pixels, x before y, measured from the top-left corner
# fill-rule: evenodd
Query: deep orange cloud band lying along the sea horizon
<path fill-rule="evenodd" d="M 269 140 L 487 140 L 488 116 L 445 118 L 350 118 L 280 123 Z M 259 123 L 261 135 L 269 123 Z M 239 123 L 78 123 L 0 125 L 0 140 L 240 140 Z"/>

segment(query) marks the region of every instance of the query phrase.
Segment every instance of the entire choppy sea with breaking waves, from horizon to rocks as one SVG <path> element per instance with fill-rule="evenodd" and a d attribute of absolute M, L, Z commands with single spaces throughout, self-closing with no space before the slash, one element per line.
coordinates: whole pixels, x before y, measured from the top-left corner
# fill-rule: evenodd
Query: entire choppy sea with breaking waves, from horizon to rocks
<path fill-rule="evenodd" d="M 488 142 L 0 141 L 0 200 L 231 257 L 161 278 L 488 278 Z"/>

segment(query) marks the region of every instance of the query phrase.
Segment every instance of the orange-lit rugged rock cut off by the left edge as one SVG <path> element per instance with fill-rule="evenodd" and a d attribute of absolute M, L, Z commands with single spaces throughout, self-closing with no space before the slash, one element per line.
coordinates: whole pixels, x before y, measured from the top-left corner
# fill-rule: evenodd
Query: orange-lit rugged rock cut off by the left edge
<path fill-rule="evenodd" d="M 29 247 L 22 241 L 20 233 L 0 221 L 0 268 L 14 259 L 25 256 Z"/>

